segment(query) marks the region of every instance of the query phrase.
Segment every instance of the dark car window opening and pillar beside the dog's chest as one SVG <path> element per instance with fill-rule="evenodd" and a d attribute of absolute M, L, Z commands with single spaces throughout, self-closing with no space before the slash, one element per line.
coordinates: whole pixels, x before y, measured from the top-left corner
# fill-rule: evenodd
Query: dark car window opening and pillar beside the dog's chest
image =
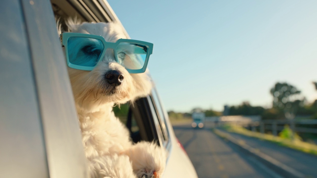
<path fill-rule="evenodd" d="M 170 136 L 166 118 L 155 89 L 149 96 L 136 100 L 133 105 L 117 105 L 113 107 L 113 111 L 127 126 L 134 143 L 155 140 L 165 148 L 168 146 Z"/>

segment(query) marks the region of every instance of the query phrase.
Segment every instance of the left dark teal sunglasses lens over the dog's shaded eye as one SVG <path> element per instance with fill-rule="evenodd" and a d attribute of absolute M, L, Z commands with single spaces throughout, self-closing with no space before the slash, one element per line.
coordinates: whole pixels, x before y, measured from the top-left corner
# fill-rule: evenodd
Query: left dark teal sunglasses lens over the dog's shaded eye
<path fill-rule="evenodd" d="M 100 40 L 69 37 L 67 41 L 69 62 L 78 66 L 96 66 L 104 46 Z"/>

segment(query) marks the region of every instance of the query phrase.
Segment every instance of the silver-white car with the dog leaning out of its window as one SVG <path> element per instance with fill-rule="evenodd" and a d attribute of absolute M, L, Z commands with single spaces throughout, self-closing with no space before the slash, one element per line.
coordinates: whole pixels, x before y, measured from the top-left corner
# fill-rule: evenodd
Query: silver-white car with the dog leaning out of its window
<path fill-rule="evenodd" d="M 103 0 L 4 0 L 0 11 L 0 177 L 87 178 L 55 16 L 87 22 L 119 19 Z M 126 106 L 120 118 L 133 141 L 154 140 L 166 148 L 163 178 L 196 178 L 155 86 L 150 95 Z"/>

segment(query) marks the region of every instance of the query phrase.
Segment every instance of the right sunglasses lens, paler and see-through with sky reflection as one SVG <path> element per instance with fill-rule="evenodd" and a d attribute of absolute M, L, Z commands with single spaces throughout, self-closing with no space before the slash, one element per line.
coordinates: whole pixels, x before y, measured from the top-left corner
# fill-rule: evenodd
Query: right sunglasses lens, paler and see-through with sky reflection
<path fill-rule="evenodd" d="M 118 62 L 126 69 L 142 69 L 148 47 L 136 43 L 122 42 L 117 47 Z"/>

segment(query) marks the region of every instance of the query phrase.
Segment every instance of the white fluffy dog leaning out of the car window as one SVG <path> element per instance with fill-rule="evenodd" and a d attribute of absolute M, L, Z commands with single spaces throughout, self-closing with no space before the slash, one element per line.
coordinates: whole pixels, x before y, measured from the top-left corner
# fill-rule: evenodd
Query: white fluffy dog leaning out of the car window
<path fill-rule="evenodd" d="M 69 32 L 100 35 L 108 42 L 126 38 L 116 23 L 67 22 Z M 80 47 L 80 42 L 78 44 Z M 116 85 L 107 74 L 115 73 Z M 113 50 L 107 50 L 92 71 L 68 67 L 78 112 L 82 143 L 91 177 L 136 178 L 161 177 L 166 152 L 156 143 L 133 144 L 129 131 L 113 113 L 115 104 L 123 104 L 150 93 L 151 80 L 146 73 L 128 73 L 115 62 Z M 113 82 L 113 81 L 112 81 Z"/>

